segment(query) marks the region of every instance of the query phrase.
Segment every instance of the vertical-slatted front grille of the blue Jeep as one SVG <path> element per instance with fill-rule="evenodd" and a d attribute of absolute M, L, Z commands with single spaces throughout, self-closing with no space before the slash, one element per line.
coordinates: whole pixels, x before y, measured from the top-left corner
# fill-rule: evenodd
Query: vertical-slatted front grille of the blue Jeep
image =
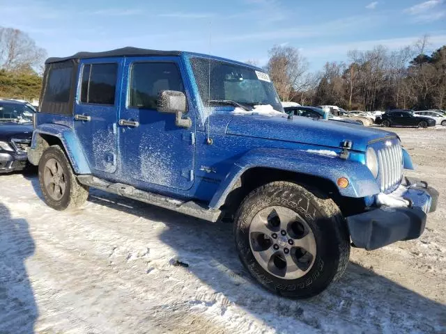
<path fill-rule="evenodd" d="M 403 177 L 403 151 L 401 144 L 387 141 L 383 148 L 378 150 L 378 175 L 381 191 L 397 186 Z"/>

